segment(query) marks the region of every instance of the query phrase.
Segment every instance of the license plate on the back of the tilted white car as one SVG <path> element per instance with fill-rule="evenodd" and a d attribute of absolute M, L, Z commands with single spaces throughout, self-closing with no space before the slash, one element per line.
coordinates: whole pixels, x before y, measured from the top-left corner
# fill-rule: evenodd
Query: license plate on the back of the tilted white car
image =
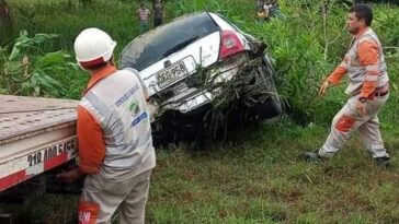
<path fill-rule="evenodd" d="M 186 74 L 187 69 L 185 68 L 183 61 L 173 63 L 157 74 L 158 86 L 163 89 Z"/>

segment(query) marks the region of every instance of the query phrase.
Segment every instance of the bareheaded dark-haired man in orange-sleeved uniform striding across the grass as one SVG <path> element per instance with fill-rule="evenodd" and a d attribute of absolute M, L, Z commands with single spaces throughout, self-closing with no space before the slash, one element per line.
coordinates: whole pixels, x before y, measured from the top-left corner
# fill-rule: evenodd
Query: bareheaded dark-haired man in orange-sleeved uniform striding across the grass
<path fill-rule="evenodd" d="M 319 94 L 323 95 L 347 73 L 350 84 L 345 93 L 350 98 L 332 120 L 324 144 L 318 152 L 305 153 L 307 161 L 333 156 L 357 131 L 374 161 L 383 166 L 390 165 L 378 120 L 378 113 L 388 99 L 389 78 L 381 44 L 369 27 L 372 21 L 373 11 L 367 4 L 355 4 L 349 11 L 346 28 L 353 35 L 352 43 L 343 61 L 322 83 Z"/>

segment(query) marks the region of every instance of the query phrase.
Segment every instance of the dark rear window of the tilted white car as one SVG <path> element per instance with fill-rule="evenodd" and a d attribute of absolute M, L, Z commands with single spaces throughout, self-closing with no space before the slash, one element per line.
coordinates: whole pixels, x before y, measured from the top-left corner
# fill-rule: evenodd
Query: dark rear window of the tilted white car
<path fill-rule="evenodd" d="M 182 16 L 133 39 L 121 54 L 119 67 L 140 71 L 218 30 L 206 12 Z"/>

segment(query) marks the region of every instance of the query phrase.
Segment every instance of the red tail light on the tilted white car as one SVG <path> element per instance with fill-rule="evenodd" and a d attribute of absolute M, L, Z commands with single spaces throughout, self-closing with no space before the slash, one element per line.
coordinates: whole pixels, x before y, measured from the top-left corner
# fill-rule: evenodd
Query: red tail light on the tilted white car
<path fill-rule="evenodd" d="M 232 31 L 223 31 L 219 58 L 225 59 L 230 55 L 243 51 L 243 46 L 237 34 Z"/>

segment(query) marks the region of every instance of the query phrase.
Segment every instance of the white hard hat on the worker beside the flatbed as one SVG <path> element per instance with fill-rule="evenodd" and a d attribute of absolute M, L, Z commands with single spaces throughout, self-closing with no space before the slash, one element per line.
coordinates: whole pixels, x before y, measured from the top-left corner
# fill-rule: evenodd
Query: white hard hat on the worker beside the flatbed
<path fill-rule="evenodd" d="M 116 42 L 99 28 L 86 28 L 75 39 L 75 54 L 79 64 L 86 69 L 104 63 L 112 57 Z"/>

